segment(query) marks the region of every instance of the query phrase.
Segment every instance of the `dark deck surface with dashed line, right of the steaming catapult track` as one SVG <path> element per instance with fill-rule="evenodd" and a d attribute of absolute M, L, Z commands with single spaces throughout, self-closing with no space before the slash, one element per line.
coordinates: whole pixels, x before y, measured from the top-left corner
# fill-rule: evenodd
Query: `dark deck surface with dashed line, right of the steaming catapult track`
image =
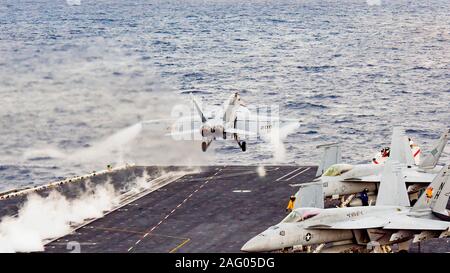
<path fill-rule="evenodd" d="M 240 252 L 282 220 L 314 166 L 202 167 L 46 245 L 46 252 Z"/>

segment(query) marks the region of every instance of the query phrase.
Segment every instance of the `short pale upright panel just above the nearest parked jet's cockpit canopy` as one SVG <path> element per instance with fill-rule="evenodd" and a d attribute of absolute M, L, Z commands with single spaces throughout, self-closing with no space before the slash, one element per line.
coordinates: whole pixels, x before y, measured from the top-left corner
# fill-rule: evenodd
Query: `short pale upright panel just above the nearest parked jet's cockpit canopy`
<path fill-rule="evenodd" d="M 311 182 L 300 185 L 295 194 L 294 209 L 296 208 L 324 208 L 322 182 Z"/>

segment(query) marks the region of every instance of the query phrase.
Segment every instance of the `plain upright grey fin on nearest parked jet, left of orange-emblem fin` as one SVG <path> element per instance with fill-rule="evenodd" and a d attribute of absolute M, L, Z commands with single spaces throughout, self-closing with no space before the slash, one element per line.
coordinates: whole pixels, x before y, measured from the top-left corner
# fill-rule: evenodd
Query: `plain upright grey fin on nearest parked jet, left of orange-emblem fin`
<path fill-rule="evenodd" d="M 384 164 L 376 206 L 410 206 L 401 166 L 392 159 Z"/>

